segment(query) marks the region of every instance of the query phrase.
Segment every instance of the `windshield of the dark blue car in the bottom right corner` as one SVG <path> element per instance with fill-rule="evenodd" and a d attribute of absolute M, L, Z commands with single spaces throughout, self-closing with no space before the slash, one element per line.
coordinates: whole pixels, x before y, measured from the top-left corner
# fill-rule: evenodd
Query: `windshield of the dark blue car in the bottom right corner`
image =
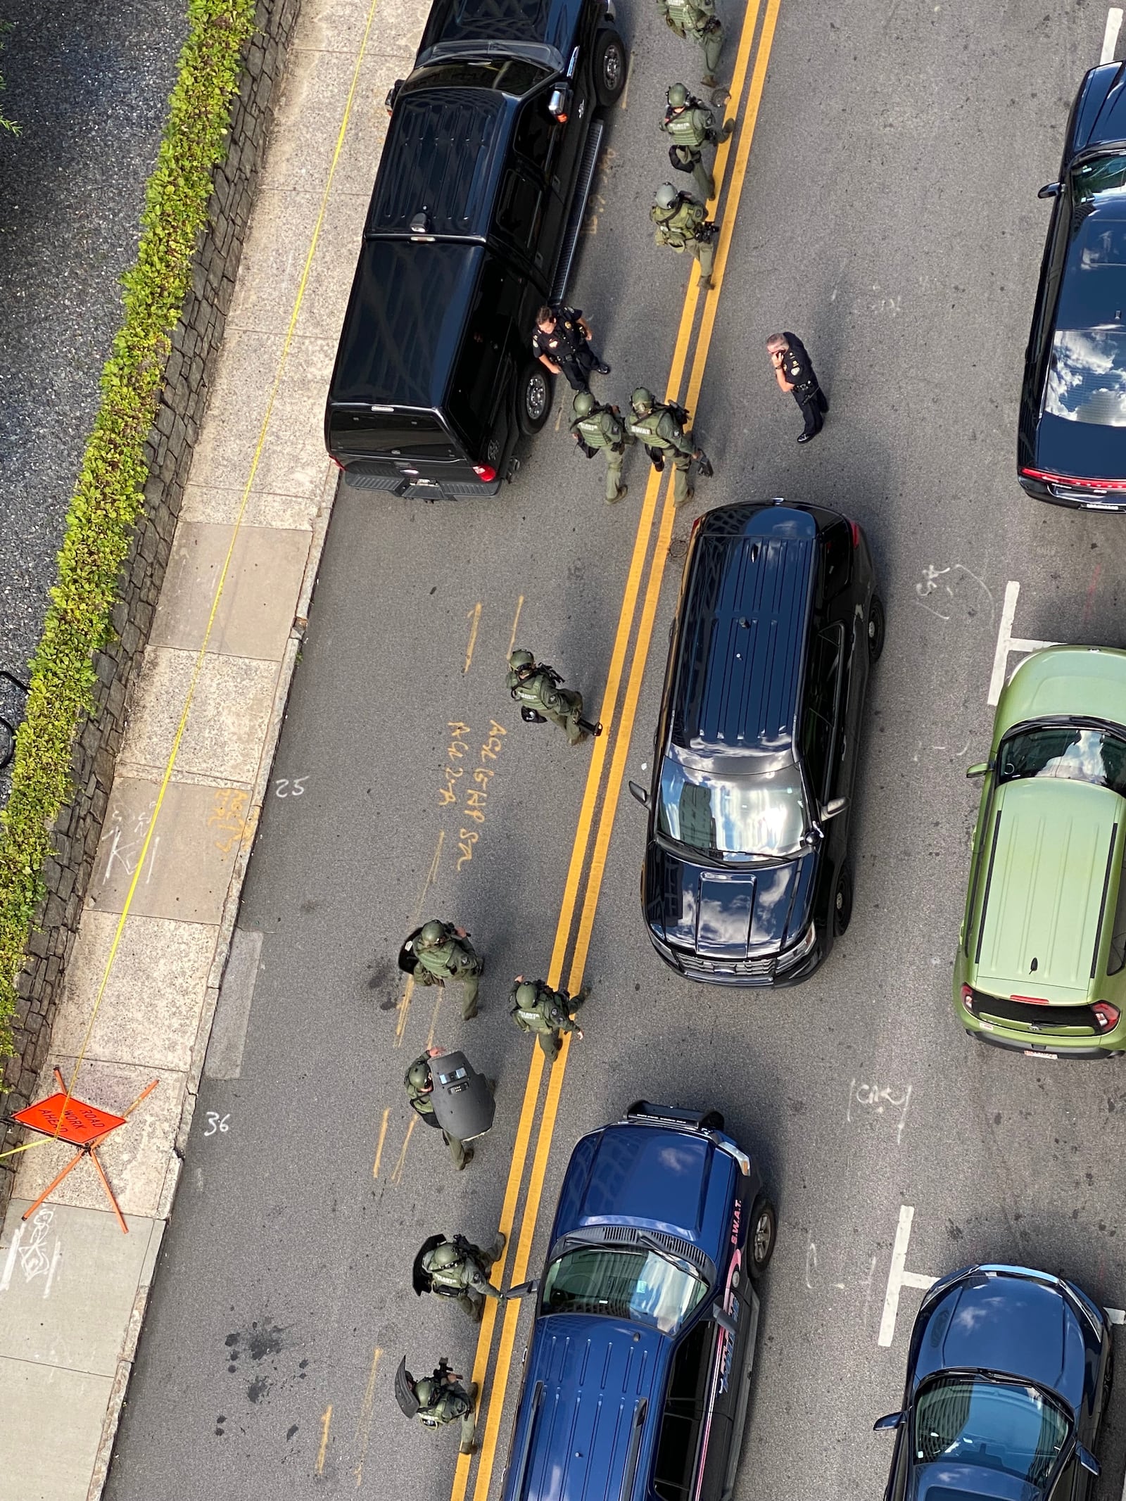
<path fill-rule="evenodd" d="M 1001 1469 L 1042 1486 L 1070 1421 L 1039 1387 L 989 1376 L 938 1376 L 916 1397 L 914 1457 Z"/>

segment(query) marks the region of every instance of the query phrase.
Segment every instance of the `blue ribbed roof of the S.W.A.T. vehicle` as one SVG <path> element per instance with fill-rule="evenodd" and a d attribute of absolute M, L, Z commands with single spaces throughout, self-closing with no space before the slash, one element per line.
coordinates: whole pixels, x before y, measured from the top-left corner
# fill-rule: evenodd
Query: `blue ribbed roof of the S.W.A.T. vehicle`
<path fill-rule="evenodd" d="M 519 1501 L 620 1493 L 638 1405 L 661 1390 L 670 1348 L 644 1324 L 589 1313 L 537 1319 L 524 1384 L 531 1400 L 519 1405 L 512 1444 L 513 1454 L 527 1453 Z M 507 1496 L 515 1501 L 513 1475 Z"/>

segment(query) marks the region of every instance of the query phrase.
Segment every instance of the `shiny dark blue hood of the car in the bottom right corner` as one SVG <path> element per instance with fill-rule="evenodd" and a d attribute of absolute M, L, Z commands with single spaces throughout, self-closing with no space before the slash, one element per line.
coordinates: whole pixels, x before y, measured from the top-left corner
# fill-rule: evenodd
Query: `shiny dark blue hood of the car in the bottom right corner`
<path fill-rule="evenodd" d="M 940 1370 L 995 1370 L 1082 1405 L 1084 1327 L 1063 1291 L 1031 1276 L 967 1273 L 920 1315 L 911 1342 L 916 1387 Z"/>

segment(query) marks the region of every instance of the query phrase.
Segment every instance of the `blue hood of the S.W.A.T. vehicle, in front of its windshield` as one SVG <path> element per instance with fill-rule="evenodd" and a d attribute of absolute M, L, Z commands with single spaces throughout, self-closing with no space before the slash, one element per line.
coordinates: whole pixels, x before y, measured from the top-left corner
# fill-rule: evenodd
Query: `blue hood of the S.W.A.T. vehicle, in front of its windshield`
<path fill-rule="evenodd" d="M 719 1265 L 736 1178 L 734 1160 L 707 1136 L 607 1126 L 572 1153 L 551 1241 L 590 1225 L 635 1225 L 688 1240 Z"/>

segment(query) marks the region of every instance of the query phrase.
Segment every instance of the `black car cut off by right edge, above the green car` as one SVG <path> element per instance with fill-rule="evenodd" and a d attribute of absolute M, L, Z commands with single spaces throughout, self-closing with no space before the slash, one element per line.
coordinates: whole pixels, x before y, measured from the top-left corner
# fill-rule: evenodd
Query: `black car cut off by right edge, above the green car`
<path fill-rule="evenodd" d="M 1126 509 L 1126 65 L 1072 105 L 1040 266 L 1016 446 L 1036 500 Z"/>

